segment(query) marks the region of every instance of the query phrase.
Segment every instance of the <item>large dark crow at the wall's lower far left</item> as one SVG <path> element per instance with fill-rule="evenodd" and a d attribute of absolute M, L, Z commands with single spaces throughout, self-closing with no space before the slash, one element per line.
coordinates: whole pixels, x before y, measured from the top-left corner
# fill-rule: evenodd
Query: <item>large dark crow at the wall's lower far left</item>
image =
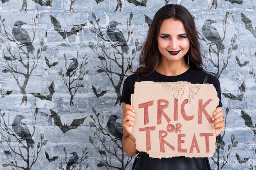
<path fill-rule="evenodd" d="M 19 137 L 26 140 L 28 147 L 34 148 L 35 142 L 32 139 L 31 133 L 29 132 L 27 125 L 21 122 L 21 120 L 25 118 L 26 117 L 22 115 L 16 115 L 12 123 L 12 129 Z"/>

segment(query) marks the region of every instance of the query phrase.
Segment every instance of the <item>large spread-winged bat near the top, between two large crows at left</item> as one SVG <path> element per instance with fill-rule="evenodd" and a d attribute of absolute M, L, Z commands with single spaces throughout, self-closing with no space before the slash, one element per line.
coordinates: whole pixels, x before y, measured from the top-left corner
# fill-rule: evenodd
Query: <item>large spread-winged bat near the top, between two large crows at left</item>
<path fill-rule="evenodd" d="M 63 37 L 63 39 L 67 38 L 70 35 L 76 35 L 80 30 L 83 29 L 83 27 L 87 23 L 86 22 L 84 24 L 74 25 L 72 29 L 69 32 L 67 32 L 67 30 L 65 31 L 61 28 L 60 22 L 56 20 L 54 16 L 50 15 L 50 17 L 51 17 L 51 23 L 54 25 L 54 30 L 57 31 L 61 35 L 61 37 Z"/>

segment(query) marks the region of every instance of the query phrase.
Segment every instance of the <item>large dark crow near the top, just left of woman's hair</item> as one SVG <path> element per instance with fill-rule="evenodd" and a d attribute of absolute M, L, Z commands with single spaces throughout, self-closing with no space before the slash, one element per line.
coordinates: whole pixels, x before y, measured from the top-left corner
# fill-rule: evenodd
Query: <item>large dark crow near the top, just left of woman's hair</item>
<path fill-rule="evenodd" d="M 128 54 L 129 47 L 126 44 L 123 33 L 116 27 L 118 24 L 121 23 L 117 21 L 111 21 L 107 29 L 107 35 L 113 42 L 121 46 L 121 50 L 123 53 Z"/>

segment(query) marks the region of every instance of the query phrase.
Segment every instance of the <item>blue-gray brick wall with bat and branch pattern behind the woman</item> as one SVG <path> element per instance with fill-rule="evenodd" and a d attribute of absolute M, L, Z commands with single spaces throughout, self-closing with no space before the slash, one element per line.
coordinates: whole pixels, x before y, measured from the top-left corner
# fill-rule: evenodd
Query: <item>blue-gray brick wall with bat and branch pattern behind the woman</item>
<path fill-rule="evenodd" d="M 130 169 L 133 158 L 123 153 L 107 122 L 112 114 L 122 116 L 119 92 L 124 79 L 131 74 L 129 69 L 138 66 L 150 19 L 170 3 L 183 5 L 193 15 L 204 68 L 220 80 L 226 129 L 223 142 L 209 158 L 212 169 L 256 169 L 256 1 L 129 1 L 1 0 L 1 169 L 66 169 L 72 152 L 79 157 L 73 170 Z M 145 18 L 149 19 L 145 22 Z M 203 35 L 207 19 L 216 21 L 211 26 L 220 41 Z M 21 35 L 12 33 L 18 20 L 26 23 L 22 28 L 34 54 L 28 53 L 29 44 L 16 40 Z M 106 35 L 112 20 L 121 23 L 117 28 L 127 41 L 128 54 Z M 74 33 L 67 36 L 71 30 Z M 225 46 L 223 53 L 217 50 L 220 42 Z M 65 72 L 74 57 L 79 65 L 69 77 Z M 21 122 L 28 130 L 21 134 L 24 138 L 30 133 L 34 148 L 27 147 L 12 128 L 13 122 L 19 122 L 14 120 L 17 115 L 26 117 Z"/>

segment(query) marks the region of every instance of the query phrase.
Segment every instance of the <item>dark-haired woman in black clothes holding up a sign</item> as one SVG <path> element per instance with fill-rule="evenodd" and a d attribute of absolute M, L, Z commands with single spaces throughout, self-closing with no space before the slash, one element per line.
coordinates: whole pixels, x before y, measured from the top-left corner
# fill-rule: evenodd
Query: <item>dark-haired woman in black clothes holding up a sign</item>
<path fill-rule="evenodd" d="M 194 20 L 181 5 L 168 4 L 154 16 L 148 35 L 140 54 L 141 67 L 135 73 L 140 81 L 175 82 L 188 81 L 203 83 L 207 74 L 202 69 L 202 58 Z M 216 136 L 225 128 L 220 98 L 218 79 L 208 74 L 207 83 L 213 84 L 220 99 L 213 113 L 212 125 Z M 123 105 L 123 138 L 124 152 L 128 156 L 138 153 L 136 139 L 131 135 L 136 119 L 134 108 L 130 105 L 130 95 L 134 93 L 136 74 L 126 78 L 121 97 Z M 209 161 L 205 158 L 150 158 L 146 153 L 139 153 L 135 159 L 135 170 L 210 170 Z"/>

